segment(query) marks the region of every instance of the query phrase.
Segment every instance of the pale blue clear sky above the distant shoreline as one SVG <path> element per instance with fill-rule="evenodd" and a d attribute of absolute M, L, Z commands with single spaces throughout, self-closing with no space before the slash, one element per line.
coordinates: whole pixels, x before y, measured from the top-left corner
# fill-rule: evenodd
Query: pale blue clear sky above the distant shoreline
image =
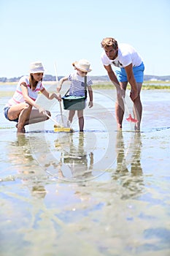
<path fill-rule="evenodd" d="M 133 45 L 144 75 L 170 75 L 169 0 L 0 0 L 0 37 L 0 78 L 28 75 L 34 61 L 65 76 L 80 59 L 90 75 L 107 75 L 104 37 Z"/>

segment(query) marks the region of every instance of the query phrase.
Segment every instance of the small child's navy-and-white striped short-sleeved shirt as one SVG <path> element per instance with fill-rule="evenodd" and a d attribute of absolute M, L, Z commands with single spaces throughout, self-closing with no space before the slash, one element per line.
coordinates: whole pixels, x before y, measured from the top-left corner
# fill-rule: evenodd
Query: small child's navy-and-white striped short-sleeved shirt
<path fill-rule="evenodd" d="M 71 81 L 69 95 L 83 97 L 85 96 L 85 78 L 77 75 L 77 72 L 74 72 L 69 75 L 68 80 Z M 92 86 L 93 82 L 87 75 L 87 86 Z"/>

